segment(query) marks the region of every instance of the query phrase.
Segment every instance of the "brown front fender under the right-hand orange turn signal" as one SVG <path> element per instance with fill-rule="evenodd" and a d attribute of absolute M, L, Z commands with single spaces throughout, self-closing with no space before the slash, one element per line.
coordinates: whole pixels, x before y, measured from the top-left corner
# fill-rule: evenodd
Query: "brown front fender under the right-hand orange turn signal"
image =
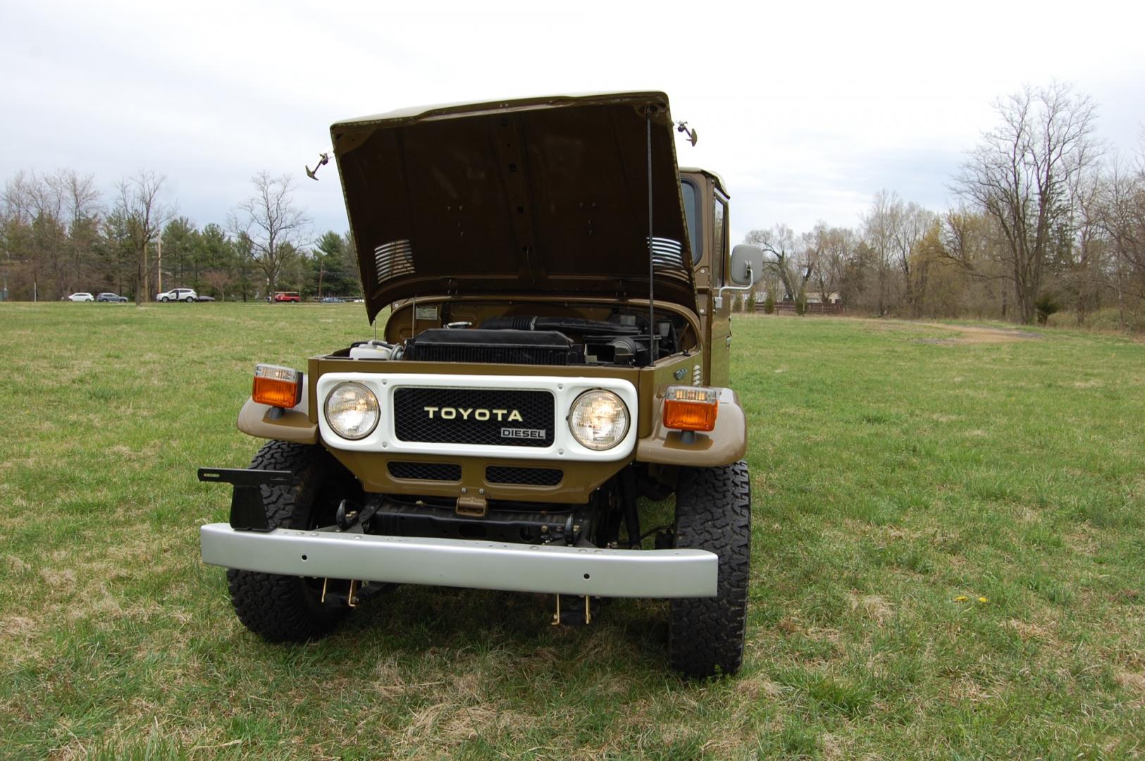
<path fill-rule="evenodd" d="M 637 442 L 637 461 L 705 468 L 742 460 L 748 451 L 748 418 L 735 391 L 729 388 L 717 390 L 719 412 L 716 414 L 716 429 L 706 434 L 697 433 L 690 443 L 685 441 L 681 431 L 664 428 L 661 420 L 663 390 L 657 391 L 652 405 L 652 434 Z"/>

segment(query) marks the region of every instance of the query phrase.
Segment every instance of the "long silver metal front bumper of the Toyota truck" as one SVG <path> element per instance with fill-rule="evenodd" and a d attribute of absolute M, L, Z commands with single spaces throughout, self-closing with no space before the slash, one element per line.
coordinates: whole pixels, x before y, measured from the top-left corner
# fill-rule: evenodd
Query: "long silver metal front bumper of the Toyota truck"
<path fill-rule="evenodd" d="M 276 529 L 199 531 L 211 565 L 332 579 L 601 597 L 714 597 L 703 549 L 597 549 Z"/>

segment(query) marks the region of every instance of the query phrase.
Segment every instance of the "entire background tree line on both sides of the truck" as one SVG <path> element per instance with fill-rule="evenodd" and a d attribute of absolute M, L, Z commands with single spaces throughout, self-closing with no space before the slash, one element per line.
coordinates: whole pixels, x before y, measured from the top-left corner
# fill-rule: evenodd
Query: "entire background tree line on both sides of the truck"
<path fill-rule="evenodd" d="M 1132 159 L 1108 152 L 1093 136 L 1096 104 L 1066 85 L 1025 88 L 996 112 L 949 177 L 947 209 L 881 190 L 854 227 L 750 231 L 745 243 L 773 265 L 749 300 L 1027 324 L 1066 310 L 1077 324 L 1104 315 L 1145 330 L 1145 142 Z M 0 295 L 114 291 L 143 302 L 160 282 L 240 300 L 362 293 L 349 233 L 308 238 L 289 176 L 255 175 L 223 223 L 202 228 L 163 187 L 147 171 L 108 193 L 71 169 L 17 173 L 0 198 Z"/>

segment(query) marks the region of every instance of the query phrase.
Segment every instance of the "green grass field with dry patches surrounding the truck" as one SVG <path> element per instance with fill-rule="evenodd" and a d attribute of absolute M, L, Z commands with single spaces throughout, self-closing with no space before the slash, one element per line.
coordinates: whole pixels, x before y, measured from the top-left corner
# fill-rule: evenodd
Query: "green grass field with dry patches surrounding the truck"
<path fill-rule="evenodd" d="M 361 306 L 0 304 L 0 756 L 1145 754 L 1145 346 L 735 318 L 747 660 L 666 671 L 666 605 L 401 588 L 323 642 L 231 612 L 199 524 L 256 360 Z"/>

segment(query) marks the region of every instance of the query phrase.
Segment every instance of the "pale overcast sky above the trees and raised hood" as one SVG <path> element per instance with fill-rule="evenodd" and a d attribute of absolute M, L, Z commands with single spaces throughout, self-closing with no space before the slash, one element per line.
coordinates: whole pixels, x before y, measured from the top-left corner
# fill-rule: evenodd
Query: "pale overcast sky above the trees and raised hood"
<path fill-rule="evenodd" d="M 315 231 L 344 231 L 333 167 L 302 174 L 337 119 L 661 89 L 700 133 L 681 164 L 727 181 L 739 241 L 853 225 L 883 188 L 945 208 L 993 101 L 1025 84 L 1072 82 L 1111 150 L 1140 144 L 1145 3 L 771 5 L 0 0 L 0 180 L 70 167 L 108 193 L 153 169 L 202 225 L 255 172 L 292 173 Z"/>

